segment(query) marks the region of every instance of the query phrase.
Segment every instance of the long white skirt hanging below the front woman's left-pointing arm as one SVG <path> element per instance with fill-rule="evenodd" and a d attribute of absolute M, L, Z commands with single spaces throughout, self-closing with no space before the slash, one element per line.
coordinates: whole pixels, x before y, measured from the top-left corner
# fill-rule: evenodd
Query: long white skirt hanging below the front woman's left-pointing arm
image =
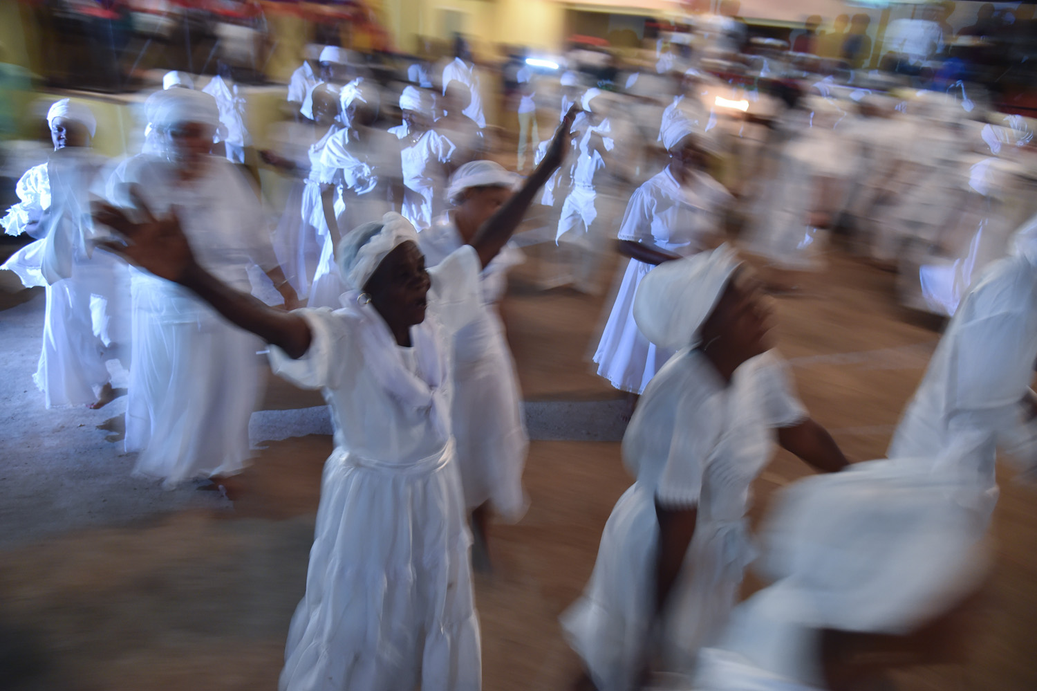
<path fill-rule="evenodd" d="M 140 451 L 134 474 L 173 488 L 245 467 L 262 341 L 160 280 L 133 282 L 125 446 Z"/>

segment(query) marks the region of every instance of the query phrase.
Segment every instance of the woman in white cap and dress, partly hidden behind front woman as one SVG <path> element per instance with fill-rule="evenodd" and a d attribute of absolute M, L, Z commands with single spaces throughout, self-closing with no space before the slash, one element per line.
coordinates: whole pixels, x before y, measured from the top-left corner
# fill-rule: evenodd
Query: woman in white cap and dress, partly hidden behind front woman
<path fill-rule="evenodd" d="M 493 161 L 466 163 L 450 181 L 453 210 L 420 236 L 425 260 L 438 265 L 470 243 L 479 227 L 511 196 L 517 175 Z M 522 251 L 504 246 L 480 274 L 482 309 L 454 337 L 454 394 L 451 417 L 457 444 L 465 505 L 475 536 L 473 561 L 488 571 L 486 529 L 491 508 L 509 523 L 526 510 L 522 472 L 529 437 L 514 360 L 497 303 L 507 289 L 507 272 L 522 262 Z"/>

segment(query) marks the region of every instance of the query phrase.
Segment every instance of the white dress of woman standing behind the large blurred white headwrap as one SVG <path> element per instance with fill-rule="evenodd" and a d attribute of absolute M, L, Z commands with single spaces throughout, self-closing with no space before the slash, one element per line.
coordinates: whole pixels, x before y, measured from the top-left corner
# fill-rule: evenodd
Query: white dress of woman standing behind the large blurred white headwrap
<path fill-rule="evenodd" d="M 703 237 L 719 228 L 719 214 L 730 195 L 712 177 L 695 173 L 681 187 L 669 166 L 630 197 L 619 239 L 690 256 L 703 249 Z M 594 353 L 597 374 L 623 391 L 641 393 L 673 351 L 648 341 L 634 322 L 634 294 L 654 267 L 629 259 L 601 340 Z"/>

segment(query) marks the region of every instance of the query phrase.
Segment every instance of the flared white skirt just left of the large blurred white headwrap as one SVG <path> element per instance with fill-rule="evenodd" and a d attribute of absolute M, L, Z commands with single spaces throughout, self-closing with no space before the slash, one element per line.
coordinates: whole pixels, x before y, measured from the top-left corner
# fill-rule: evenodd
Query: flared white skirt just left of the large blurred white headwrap
<path fill-rule="evenodd" d="M 594 353 L 598 376 L 621 391 L 644 391 L 651 378 L 675 352 L 650 342 L 634 321 L 634 294 L 641 279 L 652 269 L 652 265 L 638 259 L 630 259 L 626 265 L 616 301 Z"/>

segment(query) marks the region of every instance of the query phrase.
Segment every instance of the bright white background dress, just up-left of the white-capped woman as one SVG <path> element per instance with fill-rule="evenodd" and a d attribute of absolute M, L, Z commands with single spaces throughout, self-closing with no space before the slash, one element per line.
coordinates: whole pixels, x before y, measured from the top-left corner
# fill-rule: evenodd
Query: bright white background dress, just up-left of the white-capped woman
<path fill-rule="evenodd" d="M 400 168 L 403 175 L 403 208 L 400 215 L 421 232 L 432 219 L 446 211 L 444 168 L 456 146 L 435 130 L 426 130 L 412 143 L 407 125 L 389 130 L 400 141 Z"/>

